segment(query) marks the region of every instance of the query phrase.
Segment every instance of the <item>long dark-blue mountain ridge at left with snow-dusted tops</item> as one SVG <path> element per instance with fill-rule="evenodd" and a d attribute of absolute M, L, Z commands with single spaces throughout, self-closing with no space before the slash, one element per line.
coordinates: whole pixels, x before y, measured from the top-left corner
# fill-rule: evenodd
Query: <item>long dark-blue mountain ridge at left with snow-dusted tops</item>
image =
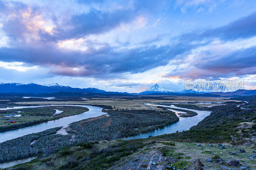
<path fill-rule="evenodd" d="M 72 88 L 70 86 L 61 86 L 58 83 L 39 85 L 35 83 L 0 83 L 0 93 L 56 93 L 56 92 L 84 92 L 84 93 L 103 93 L 105 90 L 96 88 Z"/>

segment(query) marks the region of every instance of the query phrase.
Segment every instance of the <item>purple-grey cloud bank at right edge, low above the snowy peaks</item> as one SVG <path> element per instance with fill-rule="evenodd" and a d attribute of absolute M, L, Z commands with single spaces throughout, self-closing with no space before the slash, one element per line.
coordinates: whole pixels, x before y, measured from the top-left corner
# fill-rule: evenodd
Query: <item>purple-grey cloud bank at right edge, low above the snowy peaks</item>
<path fill-rule="evenodd" d="M 230 78 L 256 74 L 256 46 L 237 50 L 223 56 L 205 57 L 186 70 L 174 70 L 164 77 L 180 75 L 180 78 L 219 80 L 220 77 Z"/>

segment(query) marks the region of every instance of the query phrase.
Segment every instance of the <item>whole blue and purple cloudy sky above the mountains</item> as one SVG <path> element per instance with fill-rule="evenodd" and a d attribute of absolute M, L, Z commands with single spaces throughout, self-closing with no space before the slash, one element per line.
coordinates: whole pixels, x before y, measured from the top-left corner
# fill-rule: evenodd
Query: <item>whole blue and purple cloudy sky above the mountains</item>
<path fill-rule="evenodd" d="M 256 89 L 255 0 L 0 0 L 0 81 L 140 92 Z"/>

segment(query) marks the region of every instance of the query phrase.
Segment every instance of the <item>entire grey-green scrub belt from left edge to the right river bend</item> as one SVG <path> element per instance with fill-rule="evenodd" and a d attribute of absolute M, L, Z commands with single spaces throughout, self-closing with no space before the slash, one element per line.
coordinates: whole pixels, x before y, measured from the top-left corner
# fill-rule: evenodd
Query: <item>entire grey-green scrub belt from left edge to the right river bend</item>
<path fill-rule="evenodd" d="M 70 141 L 71 135 L 55 134 L 60 127 L 5 141 L 0 143 L 0 163 L 42 153 L 51 154 L 57 149 L 81 142 L 137 135 L 139 133 L 153 131 L 179 120 L 172 112 L 169 112 L 171 114 L 161 114 L 152 111 L 149 111 L 151 113 L 146 113 L 147 110 L 145 113 L 141 113 L 143 112 L 141 110 L 130 111 L 140 114 L 108 111 L 109 117 L 90 122 L 82 120 L 71 123 L 68 132 L 76 135 L 75 141 Z M 107 122 L 109 124 L 106 125 Z M 30 145 L 34 140 L 36 140 L 35 143 Z"/>

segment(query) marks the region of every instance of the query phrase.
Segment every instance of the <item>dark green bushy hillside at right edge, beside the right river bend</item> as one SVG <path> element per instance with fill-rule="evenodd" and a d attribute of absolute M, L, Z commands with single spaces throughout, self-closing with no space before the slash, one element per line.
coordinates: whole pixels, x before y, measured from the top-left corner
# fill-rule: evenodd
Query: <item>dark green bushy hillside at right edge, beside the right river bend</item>
<path fill-rule="evenodd" d="M 168 138 L 169 140 L 183 142 L 231 142 L 233 145 L 239 145 L 246 141 L 245 138 L 252 138 L 256 134 L 252 128 L 238 134 L 239 129 L 236 127 L 243 122 L 254 122 L 256 127 L 255 120 L 255 109 L 244 110 L 236 107 L 236 104 L 214 106 L 212 107 L 212 113 L 196 126 L 191 127 L 189 131 L 154 138 Z"/>

